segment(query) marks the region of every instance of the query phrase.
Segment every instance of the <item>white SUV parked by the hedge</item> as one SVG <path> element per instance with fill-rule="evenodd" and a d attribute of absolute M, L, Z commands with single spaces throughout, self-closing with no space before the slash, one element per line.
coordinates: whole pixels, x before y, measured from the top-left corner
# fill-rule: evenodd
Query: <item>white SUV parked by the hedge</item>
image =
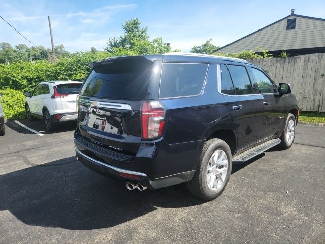
<path fill-rule="evenodd" d="M 26 92 L 25 108 L 29 120 L 44 120 L 45 129 L 53 131 L 58 123 L 77 119 L 76 100 L 82 82 L 43 81 Z"/>

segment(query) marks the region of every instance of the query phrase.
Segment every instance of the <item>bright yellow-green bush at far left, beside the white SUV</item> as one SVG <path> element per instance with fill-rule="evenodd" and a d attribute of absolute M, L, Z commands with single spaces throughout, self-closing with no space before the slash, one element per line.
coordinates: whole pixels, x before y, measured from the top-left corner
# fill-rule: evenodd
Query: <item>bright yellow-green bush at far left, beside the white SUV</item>
<path fill-rule="evenodd" d="M 4 109 L 6 119 L 25 118 L 25 95 L 14 89 L 0 89 L 2 97 L 0 103 Z"/>

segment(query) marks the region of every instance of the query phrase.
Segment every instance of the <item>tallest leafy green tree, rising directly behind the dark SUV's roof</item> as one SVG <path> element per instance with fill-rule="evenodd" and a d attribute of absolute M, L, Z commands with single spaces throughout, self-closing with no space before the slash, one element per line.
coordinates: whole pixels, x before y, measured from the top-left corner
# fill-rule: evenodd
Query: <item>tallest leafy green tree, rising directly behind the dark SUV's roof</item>
<path fill-rule="evenodd" d="M 149 40 L 148 27 L 141 27 L 141 21 L 131 19 L 122 25 L 124 36 L 109 38 L 107 47 L 104 48 L 114 56 L 163 54 L 170 52 L 170 46 L 162 38 Z"/>

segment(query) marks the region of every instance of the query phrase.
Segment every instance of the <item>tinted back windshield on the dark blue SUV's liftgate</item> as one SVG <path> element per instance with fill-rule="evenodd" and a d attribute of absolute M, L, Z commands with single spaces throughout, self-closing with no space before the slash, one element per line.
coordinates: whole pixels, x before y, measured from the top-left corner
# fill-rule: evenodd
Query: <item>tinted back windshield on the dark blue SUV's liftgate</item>
<path fill-rule="evenodd" d="M 153 62 L 144 57 L 108 60 L 96 66 L 80 95 L 118 99 L 142 99 L 148 91 Z"/>

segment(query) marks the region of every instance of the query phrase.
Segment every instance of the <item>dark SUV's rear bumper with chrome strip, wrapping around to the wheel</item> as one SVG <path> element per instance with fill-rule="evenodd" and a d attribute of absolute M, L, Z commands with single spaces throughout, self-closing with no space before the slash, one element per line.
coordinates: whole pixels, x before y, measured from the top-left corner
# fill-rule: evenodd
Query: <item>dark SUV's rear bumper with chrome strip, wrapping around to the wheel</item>
<path fill-rule="evenodd" d="M 201 141 L 150 146 L 140 145 L 135 156 L 106 149 L 76 137 L 78 160 L 87 168 L 122 181 L 141 182 L 148 189 L 176 185 L 192 179 L 199 162 Z"/>

